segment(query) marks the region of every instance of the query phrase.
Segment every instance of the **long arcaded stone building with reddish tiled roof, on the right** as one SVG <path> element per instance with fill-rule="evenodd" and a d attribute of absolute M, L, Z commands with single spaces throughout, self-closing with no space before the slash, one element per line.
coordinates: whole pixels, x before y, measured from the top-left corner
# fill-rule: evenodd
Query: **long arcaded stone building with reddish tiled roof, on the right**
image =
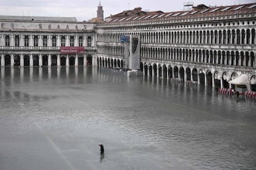
<path fill-rule="evenodd" d="M 245 74 L 256 84 L 256 4 L 226 7 L 199 5 L 189 11 L 127 10 L 97 25 L 100 67 L 123 67 L 124 34 L 140 36 L 144 75 L 184 83 L 231 87 Z"/>

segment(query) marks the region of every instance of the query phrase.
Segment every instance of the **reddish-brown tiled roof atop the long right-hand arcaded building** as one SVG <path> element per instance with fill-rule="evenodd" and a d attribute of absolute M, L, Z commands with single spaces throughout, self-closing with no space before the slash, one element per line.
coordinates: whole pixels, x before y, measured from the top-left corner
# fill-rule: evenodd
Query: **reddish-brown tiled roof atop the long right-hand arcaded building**
<path fill-rule="evenodd" d="M 162 12 L 161 10 L 147 12 L 143 11 L 141 7 L 137 7 L 134 10 L 124 10 L 123 12 L 111 15 L 106 18 L 108 23 L 118 22 L 136 22 L 143 20 L 160 20 L 160 19 L 172 19 L 174 17 L 179 18 L 193 18 L 193 17 L 211 17 L 217 15 L 233 15 L 233 14 L 244 14 L 244 13 L 256 12 L 256 3 L 252 4 L 241 4 L 234 6 L 215 6 L 208 7 L 204 4 L 200 4 L 193 7 L 192 10 L 182 10 L 176 12 Z"/>

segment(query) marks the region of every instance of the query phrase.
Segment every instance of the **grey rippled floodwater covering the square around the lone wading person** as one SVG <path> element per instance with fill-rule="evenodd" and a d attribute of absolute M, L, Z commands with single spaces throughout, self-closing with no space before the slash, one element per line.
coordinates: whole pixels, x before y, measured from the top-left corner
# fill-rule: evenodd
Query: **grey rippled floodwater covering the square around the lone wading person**
<path fill-rule="evenodd" d="M 0 74 L 1 170 L 256 169 L 256 100 L 107 68 Z"/>

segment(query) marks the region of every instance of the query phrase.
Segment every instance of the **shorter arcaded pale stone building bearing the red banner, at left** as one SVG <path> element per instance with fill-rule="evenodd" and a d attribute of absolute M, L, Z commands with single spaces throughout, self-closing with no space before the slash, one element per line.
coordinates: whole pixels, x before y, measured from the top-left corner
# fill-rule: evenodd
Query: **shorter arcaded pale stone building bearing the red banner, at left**
<path fill-rule="evenodd" d="M 0 24 L 2 67 L 93 65 L 94 23 L 69 17 L 0 16 Z M 65 53 L 61 47 L 83 47 L 85 52 Z"/>

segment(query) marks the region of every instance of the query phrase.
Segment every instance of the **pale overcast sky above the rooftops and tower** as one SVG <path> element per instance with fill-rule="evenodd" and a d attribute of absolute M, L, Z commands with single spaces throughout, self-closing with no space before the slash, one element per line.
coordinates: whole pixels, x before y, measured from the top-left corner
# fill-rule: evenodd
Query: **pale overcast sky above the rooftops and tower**
<path fill-rule="evenodd" d="M 192 0 L 102 0 L 104 17 L 117 14 L 123 10 L 142 7 L 142 10 L 162 10 L 173 12 L 183 10 L 184 2 Z M 255 0 L 194 0 L 194 6 L 229 6 L 234 4 L 254 3 Z M 46 17 L 76 17 L 77 20 L 89 20 L 96 17 L 100 1 L 88 0 L 0 0 L 0 15 L 24 15 Z"/>

